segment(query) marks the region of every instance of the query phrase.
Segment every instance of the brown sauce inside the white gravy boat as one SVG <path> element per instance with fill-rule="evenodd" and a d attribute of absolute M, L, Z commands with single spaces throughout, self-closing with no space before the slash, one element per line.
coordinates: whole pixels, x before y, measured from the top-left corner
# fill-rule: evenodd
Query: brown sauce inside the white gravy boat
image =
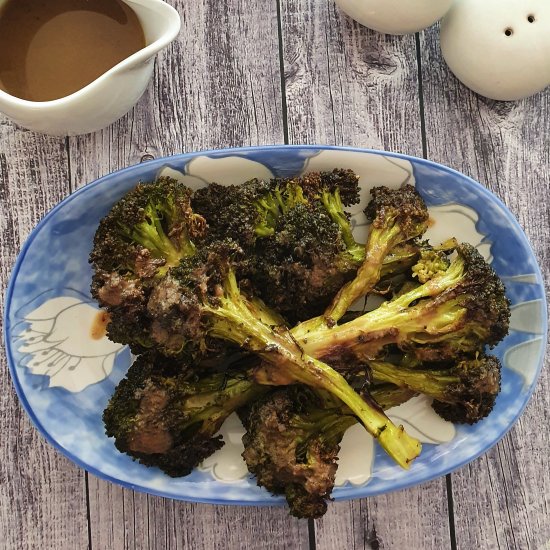
<path fill-rule="evenodd" d="M 59 99 L 144 46 L 137 15 L 121 0 L 8 0 L 0 8 L 0 89 Z"/>

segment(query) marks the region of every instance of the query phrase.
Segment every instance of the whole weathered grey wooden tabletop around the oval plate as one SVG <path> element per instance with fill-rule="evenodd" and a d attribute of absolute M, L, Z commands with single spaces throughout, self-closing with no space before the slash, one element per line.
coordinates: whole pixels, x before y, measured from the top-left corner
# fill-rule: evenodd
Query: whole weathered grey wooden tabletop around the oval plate
<path fill-rule="evenodd" d="M 483 99 L 443 62 L 437 28 L 376 34 L 332 0 L 173 0 L 178 40 L 110 128 L 51 138 L 0 118 L 0 286 L 21 244 L 71 191 L 142 160 L 207 148 L 320 143 L 447 164 L 517 216 L 550 280 L 550 92 Z M 1 321 L 0 321 L 1 323 Z M 0 549 L 550 549 L 550 373 L 511 432 L 472 464 L 413 489 L 283 508 L 196 505 L 96 479 L 54 451 L 0 357 Z"/>

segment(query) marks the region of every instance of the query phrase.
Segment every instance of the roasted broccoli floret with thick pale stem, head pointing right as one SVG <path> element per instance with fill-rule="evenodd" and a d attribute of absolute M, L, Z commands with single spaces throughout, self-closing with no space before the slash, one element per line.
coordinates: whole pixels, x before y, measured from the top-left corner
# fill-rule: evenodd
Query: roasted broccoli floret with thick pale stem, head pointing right
<path fill-rule="evenodd" d="M 376 359 L 390 344 L 441 361 L 495 346 L 509 318 L 501 280 L 474 247 L 462 244 L 448 269 L 425 284 L 343 325 L 300 334 L 299 342 L 329 363 L 349 355 Z"/>

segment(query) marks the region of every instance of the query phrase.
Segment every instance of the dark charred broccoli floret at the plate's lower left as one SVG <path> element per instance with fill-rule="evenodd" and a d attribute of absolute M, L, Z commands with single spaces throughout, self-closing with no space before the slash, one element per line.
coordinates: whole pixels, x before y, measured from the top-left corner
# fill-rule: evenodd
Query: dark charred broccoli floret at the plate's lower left
<path fill-rule="evenodd" d="M 197 377 L 187 367 L 152 352 L 139 356 L 103 413 L 119 451 L 173 477 L 221 448 L 224 420 L 266 392 L 243 372 Z"/>

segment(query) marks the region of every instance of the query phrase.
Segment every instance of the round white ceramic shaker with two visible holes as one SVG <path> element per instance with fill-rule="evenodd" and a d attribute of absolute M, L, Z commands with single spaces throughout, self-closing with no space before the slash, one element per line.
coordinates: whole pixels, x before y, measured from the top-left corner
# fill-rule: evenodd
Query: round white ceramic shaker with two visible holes
<path fill-rule="evenodd" d="M 441 23 L 441 50 L 478 94 L 533 95 L 550 84 L 550 0 L 455 0 Z"/>

